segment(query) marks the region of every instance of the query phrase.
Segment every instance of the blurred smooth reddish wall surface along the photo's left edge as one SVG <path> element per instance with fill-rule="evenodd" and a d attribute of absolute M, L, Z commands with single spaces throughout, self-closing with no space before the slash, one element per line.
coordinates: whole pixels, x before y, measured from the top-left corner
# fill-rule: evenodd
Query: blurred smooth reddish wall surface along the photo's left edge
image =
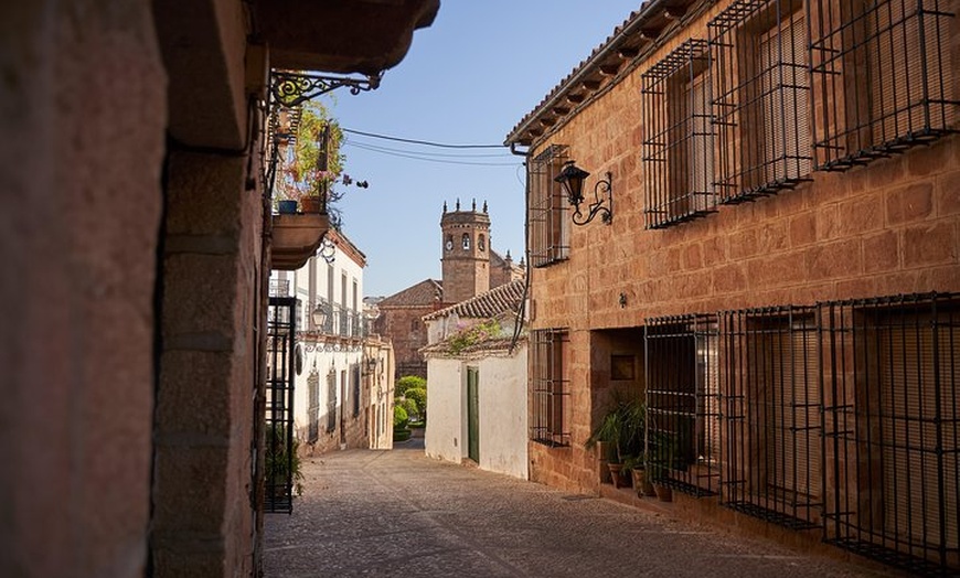
<path fill-rule="evenodd" d="M 150 7 L 0 6 L 4 576 L 146 567 L 167 121 Z"/>

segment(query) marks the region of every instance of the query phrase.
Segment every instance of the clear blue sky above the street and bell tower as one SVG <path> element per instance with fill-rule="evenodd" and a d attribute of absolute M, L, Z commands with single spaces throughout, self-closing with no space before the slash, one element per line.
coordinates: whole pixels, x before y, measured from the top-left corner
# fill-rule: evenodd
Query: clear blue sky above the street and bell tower
<path fill-rule="evenodd" d="M 430 28 L 380 88 L 323 103 L 348 129 L 452 144 L 501 144 L 510 130 L 641 0 L 441 0 Z M 356 31 L 362 34 L 363 31 Z M 370 150 L 390 149 L 387 151 Z M 346 135 L 345 172 L 366 180 L 341 202 L 346 236 L 367 257 L 365 296 L 440 278 L 440 215 L 487 201 L 494 250 L 523 256 L 522 157 Z M 428 156 L 419 160 L 409 156 Z M 444 161 L 444 162 L 437 162 Z M 481 163 L 481 164 L 465 164 Z M 342 185 L 340 185 L 342 186 Z"/>

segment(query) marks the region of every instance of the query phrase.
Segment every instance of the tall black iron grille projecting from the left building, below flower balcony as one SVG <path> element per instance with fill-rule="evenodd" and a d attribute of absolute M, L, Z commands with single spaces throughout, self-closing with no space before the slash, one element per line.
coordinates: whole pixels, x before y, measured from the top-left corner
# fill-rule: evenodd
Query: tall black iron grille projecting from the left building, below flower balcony
<path fill-rule="evenodd" d="M 297 301 L 270 297 L 267 308 L 267 383 L 264 511 L 294 511 L 294 346 Z"/>

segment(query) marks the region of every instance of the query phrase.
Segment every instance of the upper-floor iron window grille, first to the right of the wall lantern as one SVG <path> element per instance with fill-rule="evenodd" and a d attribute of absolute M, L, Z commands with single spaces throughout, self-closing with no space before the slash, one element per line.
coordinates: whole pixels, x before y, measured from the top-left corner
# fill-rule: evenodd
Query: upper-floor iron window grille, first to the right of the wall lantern
<path fill-rule="evenodd" d="M 707 42 L 691 39 L 642 75 L 647 228 L 716 210 Z"/>

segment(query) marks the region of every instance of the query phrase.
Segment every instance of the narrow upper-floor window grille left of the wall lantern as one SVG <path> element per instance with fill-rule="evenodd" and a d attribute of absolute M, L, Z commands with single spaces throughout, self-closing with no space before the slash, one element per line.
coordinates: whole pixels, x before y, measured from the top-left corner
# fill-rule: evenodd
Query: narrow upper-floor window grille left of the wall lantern
<path fill-rule="evenodd" d="M 567 147 L 551 144 L 527 163 L 527 250 L 530 264 L 545 267 L 569 258 L 570 224 L 565 196 L 554 181 L 567 160 Z"/>

